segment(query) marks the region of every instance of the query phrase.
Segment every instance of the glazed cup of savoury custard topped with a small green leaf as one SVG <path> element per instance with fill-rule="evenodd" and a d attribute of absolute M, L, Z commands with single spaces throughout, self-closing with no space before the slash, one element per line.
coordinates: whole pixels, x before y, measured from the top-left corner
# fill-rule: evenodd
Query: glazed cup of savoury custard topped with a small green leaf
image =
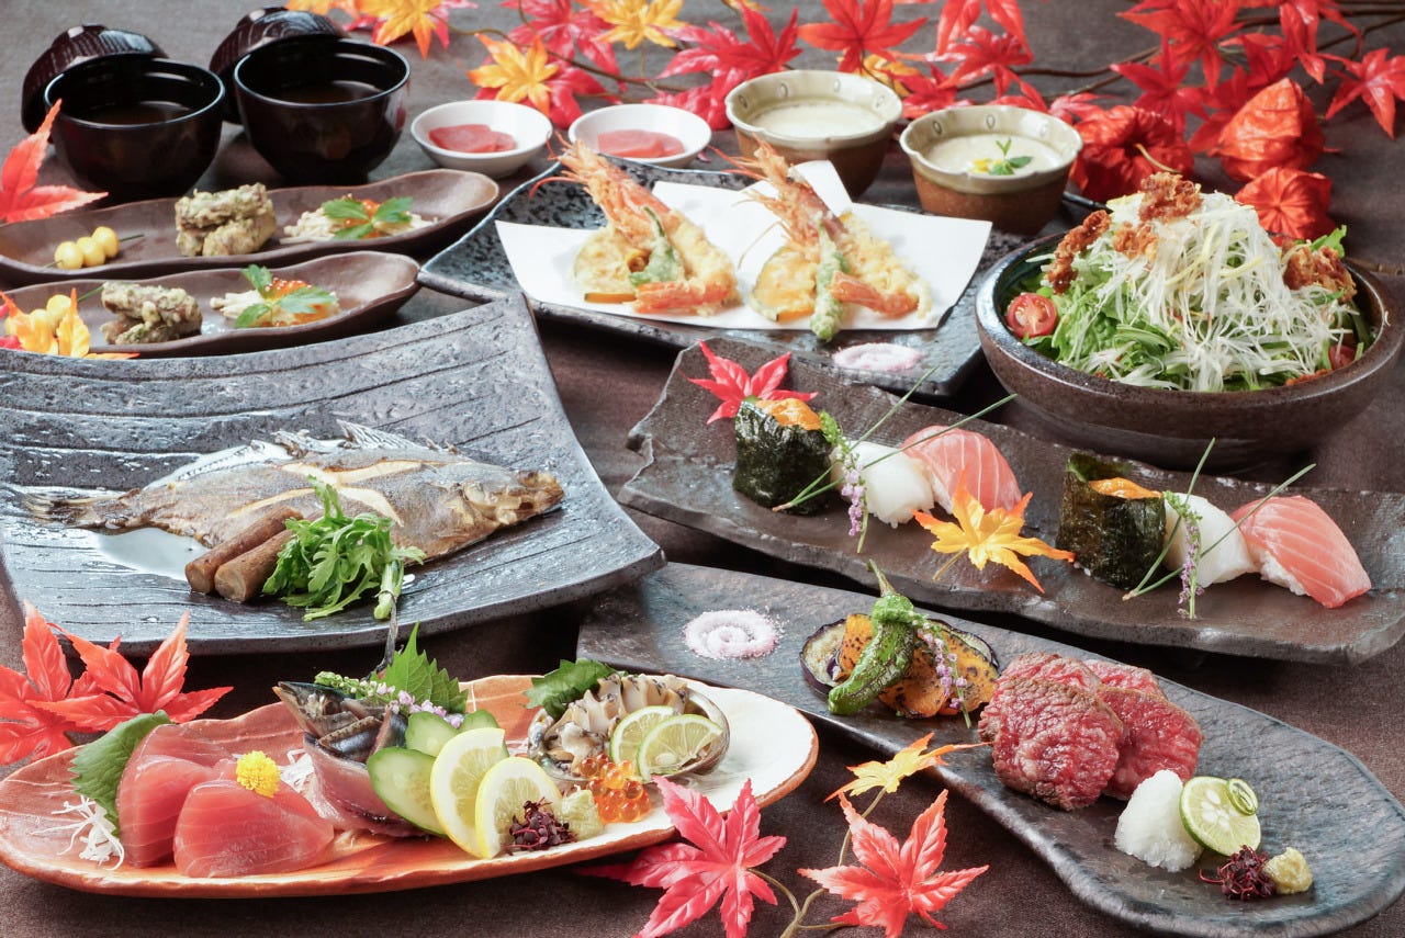
<path fill-rule="evenodd" d="M 922 115 L 902 132 L 899 145 L 927 212 L 1035 234 L 1058 211 L 1083 139 L 1051 114 L 978 104 Z M 1010 157 L 1024 161 L 1007 173 L 991 171 L 1002 159 L 1010 167 Z"/>

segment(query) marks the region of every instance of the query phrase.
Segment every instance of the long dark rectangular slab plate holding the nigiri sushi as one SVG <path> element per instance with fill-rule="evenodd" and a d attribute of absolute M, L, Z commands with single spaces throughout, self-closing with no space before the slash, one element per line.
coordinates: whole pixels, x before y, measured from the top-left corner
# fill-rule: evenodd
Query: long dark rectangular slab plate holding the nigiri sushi
<path fill-rule="evenodd" d="M 754 371 L 770 348 L 719 338 L 710 341 L 718 355 Z M 932 535 L 916 524 L 889 528 L 870 520 L 864 556 L 849 538 L 843 507 L 809 518 L 795 518 L 752 503 L 732 490 L 735 441 L 728 423 L 708 425 L 717 406 L 711 393 L 684 376 L 708 375 L 701 351 L 679 355 L 653 410 L 634 428 L 631 447 L 646 465 L 620 493 L 631 507 L 708 531 L 773 556 L 868 580 L 873 557 L 899 590 L 913 598 L 954 609 L 1016 612 L 1038 622 L 1120 642 L 1170 645 L 1281 659 L 1288 661 L 1360 661 L 1395 645 L 1405 635 L 1405 496 L 1340 490 L 1294 489 L 1316 500 L 1356 546 L 1375 588 L 1338 609 L 1325 609 L 1307 597 L 1256 577 L 1239 577 L 1205 590 L 1197 618 L 1183 618 L 1172 583 L 1132 601 L 1123 591 L 1085 576 L 1071 564 L 1035 557 L 1031 569 L 1044 586 L 1041 595 L 996 564 L 978 572 L 965 560 L 933 581 L 946 559 L 930 549 Z M 832 372 L 794 362 L 788 388 L 818 390 L 813 404 L 833 413 L 849 435 L 874 425 L 895 402 L 874 388 L 847 385 Z M 908 403 L 873 438 L 895 445 L 930 424 L 961 418 L 937 407 Z M 1016 430 L 976 421 L 1009 461 L 1024 491 L 1034 498 L 1026 511 L 1026 532 L 1052 543 L 1064 490 L 1064 466 L 1073 449 L 1028 437 Z M 1151 466 L 1139 473 L 1151 489 L 1184 491 L 1187 473 Z M 1227 477 L 1201 477 L 1194 491 L 1231 510 L 1269 491 L 1270 486 Z"/>

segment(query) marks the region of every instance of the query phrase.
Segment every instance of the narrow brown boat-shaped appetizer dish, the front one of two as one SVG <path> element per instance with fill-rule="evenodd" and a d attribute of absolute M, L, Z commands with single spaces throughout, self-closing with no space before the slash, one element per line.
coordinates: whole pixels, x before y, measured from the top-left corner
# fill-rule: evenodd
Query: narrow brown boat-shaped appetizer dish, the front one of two
<path fill-rule="evenodd" d="M 303 281 L 312 286 L 329 289 L 337 296 L 339 312 L 326 319 L 298 326 L 277 326 L 263 329 L 235 329 L 235 320 L 226 319 L 211 306 L 211 300 L 225 293 L 242 293 L 251 289 L 242 267 L 221 267 L 207 271 L 167 274 L 152 279 L 136 281 L 143 285 L 180 288 L 200 303 L 200 331 L 184 338 L 164 343 L 143 343 L 138 345 L 110 345 L 103 337 L 103 324 L 112 322 L 112 313 L 103 306 L 101 289 L 107 279 L 70 279 L 59 284 L 34 284 L 8 292 L 20 309 L 35 309 L 59 293 L 79 295 L 79 316 L 89 327 L 93 351 L 135 352 L 140 358 L 164 358 L 170 355 L 215 355 L 282 348 L 312 341 L 340 338 L 381 322 L 420 288 L 416 275 L 420 265 L 400 254 L 382 251 L 351 251 L 350 254 L 329 254 L 292 267 L 270 268 L 274 277 Z"/>

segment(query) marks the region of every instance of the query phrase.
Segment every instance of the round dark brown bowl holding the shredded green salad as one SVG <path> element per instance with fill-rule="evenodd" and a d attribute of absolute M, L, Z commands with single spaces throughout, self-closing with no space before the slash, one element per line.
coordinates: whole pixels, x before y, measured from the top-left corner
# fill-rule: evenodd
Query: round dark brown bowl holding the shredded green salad
<path fill-rule="evenodd" d="M 1089 375 L 1030 348 L 1005 322 L 1010 300 L 1038 275 L 1059 239 L 1034 242 L 991 270 L 976 293 L 976 323 L 995 376 L 1020 395 L 1020 404 L 1052 437 L 1075 447 L 1168 469 L 1194 466 L 1211 438 L 1210 469 L 1290 456 L 1312 448 L 1380 396 L 1405 345 L 1405 329 L 1388 315 L 1380 286 L 1347 264 L 1356 306 L 1375 338 L 1345 366 L 1280 388 L 1224 392 L 1139 388 Z"/>

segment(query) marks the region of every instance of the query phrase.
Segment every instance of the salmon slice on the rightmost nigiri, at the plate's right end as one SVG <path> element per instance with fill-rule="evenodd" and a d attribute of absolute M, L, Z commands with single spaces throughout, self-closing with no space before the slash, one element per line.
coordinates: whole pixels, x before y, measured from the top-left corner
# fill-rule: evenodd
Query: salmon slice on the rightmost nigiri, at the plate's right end
<path fill-rule="evenodd" d="M 1311 498 L 1276 496 L 1263 504 L 1252 501 L 1232 517 L 1264 580 L 1329 609 L 1371 588 L 1352 542 Z"/>

